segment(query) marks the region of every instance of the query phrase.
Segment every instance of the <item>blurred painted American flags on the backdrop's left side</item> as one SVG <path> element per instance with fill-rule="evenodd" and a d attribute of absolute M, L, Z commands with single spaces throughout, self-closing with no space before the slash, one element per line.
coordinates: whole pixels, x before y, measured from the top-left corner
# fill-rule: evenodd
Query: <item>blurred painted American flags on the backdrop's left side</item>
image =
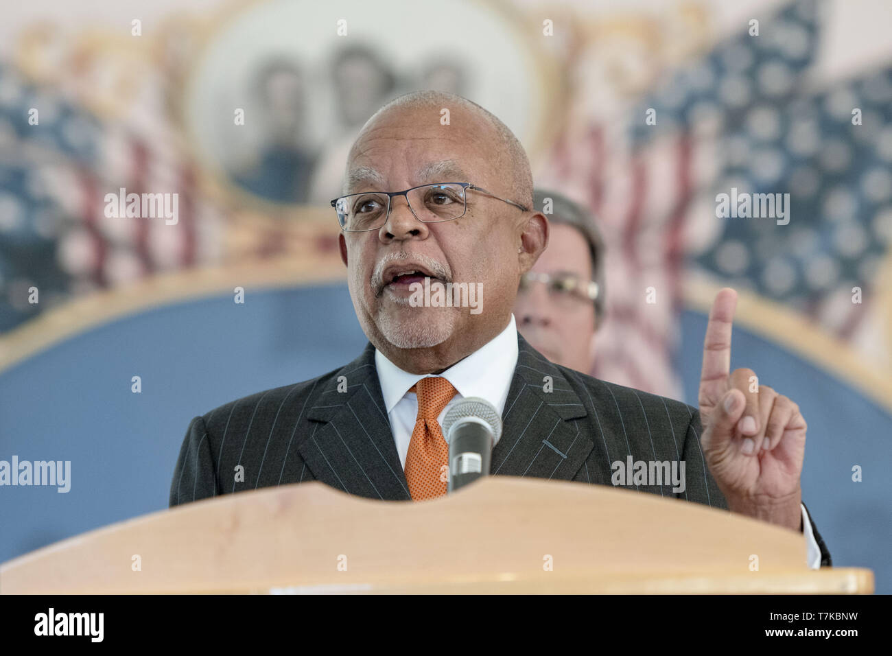
<path fill-rule="evenodd" d="M 106 218 L 104 197 L 120 187 L 177 193 L 178 223 Z M 176 145 L 0 65 L 0 332 L 74 295 L 215 262 L 219 218 Z"/>

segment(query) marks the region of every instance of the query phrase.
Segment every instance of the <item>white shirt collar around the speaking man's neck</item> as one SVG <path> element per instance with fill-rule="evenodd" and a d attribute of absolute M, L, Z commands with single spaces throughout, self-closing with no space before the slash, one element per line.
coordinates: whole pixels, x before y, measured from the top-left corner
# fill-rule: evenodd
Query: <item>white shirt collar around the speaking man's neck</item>
<path fill-rule="evenodd" d="M 375 351 L 375 368 L 388 413 L 421 378 L 442 376 L 463 398 L 479 396 L 492 403 L 501 414 L 516 366 L 517 327 L 514 314 L 499 335 L 440 374 L 411 374 L 401 370 L 377 349 Z"/>

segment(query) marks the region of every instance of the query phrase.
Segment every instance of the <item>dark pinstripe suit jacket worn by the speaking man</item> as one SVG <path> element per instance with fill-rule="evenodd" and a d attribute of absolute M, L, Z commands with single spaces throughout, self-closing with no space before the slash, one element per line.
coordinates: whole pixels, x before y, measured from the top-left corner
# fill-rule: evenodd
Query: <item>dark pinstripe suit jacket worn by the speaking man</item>
<path fill-rule="evenodd" d="M 518 334 L 503 431 L 491 474 L 611 485 L 611 463 L 685 461 L 686 489 L 636 486 L 727 509 L 700 452 L 699 412 L 548 361 Z M 551 377 L 553 390 L 545 391 Z M 342 378 L 343 377 L 343 378 Z M 340 390 L 339 391 L 339 387 Z M 236 476 L 241 465 L 244 472 Z M 245 396 L 192 420 L 170 506 L 217 494 L 318 480 L 349 494 L 410 500 L 371 344 L 350 364 L 293 386 Z M 822 565 L 830 553 L 814 529 Z"/>

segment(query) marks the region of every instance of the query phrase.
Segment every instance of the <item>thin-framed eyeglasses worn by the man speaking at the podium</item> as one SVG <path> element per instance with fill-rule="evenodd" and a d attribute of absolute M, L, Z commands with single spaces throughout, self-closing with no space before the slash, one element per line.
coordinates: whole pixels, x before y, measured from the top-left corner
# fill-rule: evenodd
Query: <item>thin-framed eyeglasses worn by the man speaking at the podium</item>
<path fill-rule="evenodd" d="M 434 185 L 412 187 L 404 191 L 370 191 L 343 195 L 331 202 L 337 212 L 338 223 L 346 232 L 365 232 L 381 228 L 390 216 L 391 200 L 394 196 L 406 196 L 409 210 L 422 223 L 440 223 L 465 216 L 467 212 L 467 190 L 488 195 L 529 212 L 520 203 L 492 195 L 482 187 L 469 182 L 444 182 Z"/>

